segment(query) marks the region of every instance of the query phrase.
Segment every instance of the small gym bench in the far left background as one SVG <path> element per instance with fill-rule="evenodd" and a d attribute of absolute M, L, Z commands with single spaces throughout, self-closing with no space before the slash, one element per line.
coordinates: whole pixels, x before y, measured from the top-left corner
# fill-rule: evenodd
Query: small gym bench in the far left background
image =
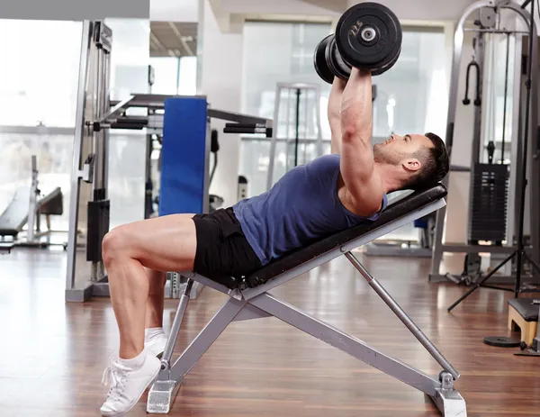
<path fill-rule="evenodd" d="M 0 215 L 0 250 L 10 251 L 15 246 L 48 248 L 53 243 L 49 239 L 50 216 L 64 213 L 63 195 L 60 187 L 42 195 L 39 188 L 38 164 L 31 156 L 31 186 L 22 186 L 15 191 L 14 198 Z M 41 231 L 41 216 L 47 222 L 47 231 Z M 18 239 L 26 226 L 26 235 Z M 8 237 L 10 240 L 6 240 Z M 59 243 L 58 245 L 62 245 Z"/>

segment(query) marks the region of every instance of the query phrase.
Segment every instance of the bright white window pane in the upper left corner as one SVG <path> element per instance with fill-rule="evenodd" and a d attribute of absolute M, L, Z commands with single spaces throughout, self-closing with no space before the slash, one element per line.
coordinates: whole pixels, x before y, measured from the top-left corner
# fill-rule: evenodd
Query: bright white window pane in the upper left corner
<path fill-rule="evenodd" d="M 73 127 L 82 23 L 0 20 L 0 125 Z"/>

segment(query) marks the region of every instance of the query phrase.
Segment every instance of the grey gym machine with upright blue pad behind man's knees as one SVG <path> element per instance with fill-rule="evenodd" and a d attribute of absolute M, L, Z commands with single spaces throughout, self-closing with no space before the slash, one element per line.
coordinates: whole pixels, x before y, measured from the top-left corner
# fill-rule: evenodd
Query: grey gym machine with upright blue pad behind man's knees
<path fill-rule="evenodd" d="M 112 30 L 103 22 L 85 21 L 69 202 L 67 302 L 109 296 L 102 241 L 110 226 L 107 180 L 111 129 L 145 129 L 147 137 L 161 138 L 160 215 L 208 213 L 211 119 L 227 121 L 225 133 L 272 135 L 271 120 L 212 109 L 204 96 L 134 94 L 125 100 L 111 101 L 111 53 Z M 148 112 L 143 116 L 130 115 L 134 108 Z M 145 189 L 148 192 L 148 186 Z M 186 189 L 189 195 L 182 194 Z M 179 294 L 180 283 L 170 286 L 171 293 Z M 201 290 L 202 286 L 193 286 L 191 295 L 196 296 Z"/>

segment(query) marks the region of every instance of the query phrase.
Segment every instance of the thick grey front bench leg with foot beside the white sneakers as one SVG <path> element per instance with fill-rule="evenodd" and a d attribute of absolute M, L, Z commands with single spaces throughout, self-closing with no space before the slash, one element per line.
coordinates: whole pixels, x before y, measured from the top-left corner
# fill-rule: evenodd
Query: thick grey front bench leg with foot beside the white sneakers
<path fill-rule="evenodd" d="M 212 317 L 211 321 L 206 324 L 190 345 L 184 349 L 180 358 L 176 359 L 175 364 L 170 369 L 167 369 L 166 363 L 162 361 L 162 370 L 157 375 L 156 382 L 148 392 L 147 412 L 166 414 L 170 411 L 184 376 L 194 367 L 204 352 L 211 347 L 211 344 L 218 339 L 229 323 L 234 321 L 237 314 L 245 305 L 246 301 L 244 300 L 229 298 L 220 308 L 220 311 Z M 181 308 L 182 305 L 179 305 L 178 310 Z M 176 332 L 178 330 L 179 327 L 176 329 Z M 171 332 L 167 347 L 172 337 L 176 338 L 176 335 L 173 336 Z"/>

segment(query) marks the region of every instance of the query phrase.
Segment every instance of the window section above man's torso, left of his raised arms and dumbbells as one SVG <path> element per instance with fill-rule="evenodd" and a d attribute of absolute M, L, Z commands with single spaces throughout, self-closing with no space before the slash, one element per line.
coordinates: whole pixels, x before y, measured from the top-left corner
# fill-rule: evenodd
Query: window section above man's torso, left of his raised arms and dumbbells
<path fill-rule="evenodd" d="M 275 92 L 277 83 L 308 83 L 320 86 L 321 131 L 323 139 L 329 141 L 329 123 L 326 104 L 330 85 L 320 79 L 313 68 L 313 52 L 317 44 L 331 32 L 329 23 L 279 23 L 279 22 L 247 22 L 244 26 L 244 84 L 242 86 L 242 112 L 269 119 L 274 118 Z M 295 118 L 294 96 L 290 89 L 282 92 L 280 106 L 280 122 L 275 128 L 279 137 L 292 135 L 291 122 Z M 313 139 L 316 134 L 312 117 L 306 114 L 313 112 L 314 95 L 300 98 L 299 119 L 308 129 L 302 131 L 306 139 Z M 308 120 L 308 122 L 304 122 Z M 287 122 L 289 121 L 289 122 Z M 302 129 L 302 128 L 301 128 Z M 329 148 L 329 147 L 328 147 Z M 268 155 L 270 143 L 264 138 L 246 138 L 241 143 L 240 175 L 249 181 L 250 195 L 266 191 L 268 174 Z M 291 160 L 291 148 L 289 149 Z M 312 144 L 299 148 L 301 163 L 315 158 L 315 147 Z M 286 148 L 283 143 L 277 146 L 275 156 L 275 175 L 284 174 L 286 166 Z M 289 167 L 292 164 L 289 163 Z"/>

